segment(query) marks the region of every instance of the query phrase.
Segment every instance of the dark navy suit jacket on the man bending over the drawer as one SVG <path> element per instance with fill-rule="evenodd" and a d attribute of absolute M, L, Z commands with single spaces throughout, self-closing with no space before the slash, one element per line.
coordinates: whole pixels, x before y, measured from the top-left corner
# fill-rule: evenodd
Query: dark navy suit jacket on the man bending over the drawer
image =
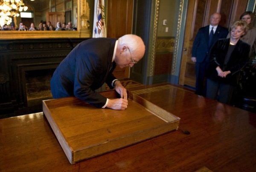
<path fill-rule="evenodd" d="M 111 61 L 115 43 L 116 39 L 112 38 L 93 38 L 79 43 L 53 73 L 53 98 L 76 96 L 96 107 L 104 106 L 107 99 L 94 90 L 104 82 L 113 88 L 111 83 L 116 78 L 112 72 L 116 64 Z"/>

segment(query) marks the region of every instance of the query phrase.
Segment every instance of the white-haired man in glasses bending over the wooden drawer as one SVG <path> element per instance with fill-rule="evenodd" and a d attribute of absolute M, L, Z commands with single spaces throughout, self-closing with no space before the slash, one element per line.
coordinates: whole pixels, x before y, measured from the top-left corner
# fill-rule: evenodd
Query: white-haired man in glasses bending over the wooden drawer
<path fill-rule="evenodd" d="M 127 108 L 127 93 L 113 76 L 116 65 L 133 67 L 144 55 L 143 40 L 136 35 L 93 38 L 81 42 L 59 64 L 51 79 L 53 98 L 76 96 L 96 107 L 116 110 Z M 104 82 L 115 88 L 120 99 L 107 99 L 95 90 Z"/>

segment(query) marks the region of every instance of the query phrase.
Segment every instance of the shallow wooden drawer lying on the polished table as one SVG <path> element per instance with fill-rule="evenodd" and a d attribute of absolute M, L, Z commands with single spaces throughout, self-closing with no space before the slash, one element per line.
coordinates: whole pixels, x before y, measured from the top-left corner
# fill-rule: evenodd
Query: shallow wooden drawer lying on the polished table
<path fill-rule="evenodd" d="M 178 129 L 180 118 L 138 95 L 131 98 L 129 108 L 120 111 L 95 108 L 76 97 L 43 101 L 70 164 Z"/>

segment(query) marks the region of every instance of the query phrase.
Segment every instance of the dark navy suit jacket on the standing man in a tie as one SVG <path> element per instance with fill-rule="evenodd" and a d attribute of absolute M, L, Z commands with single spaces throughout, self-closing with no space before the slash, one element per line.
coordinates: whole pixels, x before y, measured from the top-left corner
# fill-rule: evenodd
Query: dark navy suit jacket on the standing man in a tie
<path fill-rule="evenodd" d="M 212 38 L 212 45 L 221 38 L 226 38 L 228 34 L 227 28 L 218 25 Z M 196 57 L 196 62 L 209 62 L 209 25 L 199 29 L 192 48 L 192 57 Z M 207 58 L 207 59 L 205 59 Z"/>

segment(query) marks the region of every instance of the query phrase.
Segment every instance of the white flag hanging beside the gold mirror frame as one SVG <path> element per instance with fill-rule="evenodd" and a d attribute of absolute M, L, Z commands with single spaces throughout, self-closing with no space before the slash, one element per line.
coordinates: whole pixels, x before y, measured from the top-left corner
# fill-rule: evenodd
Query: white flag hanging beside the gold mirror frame
<path fill-rule="evenodd" d="M 95 0 L 93 38 L 107 37 L 104 0 Z"/>

